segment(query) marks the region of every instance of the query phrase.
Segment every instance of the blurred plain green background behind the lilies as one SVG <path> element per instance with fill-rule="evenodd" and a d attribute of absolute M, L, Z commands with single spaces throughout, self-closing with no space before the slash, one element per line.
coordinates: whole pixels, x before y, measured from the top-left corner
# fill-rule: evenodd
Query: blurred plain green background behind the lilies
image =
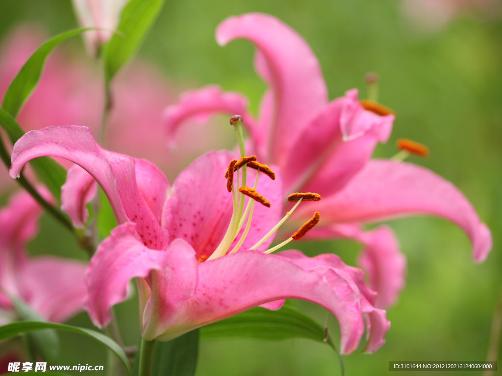
<path fill-rule="evenodd" d="M 356 351 L 345 356 L 347 375 L 388 374 L 390 360 L 485 360 L 502 286 L 502 24 L 473 15 L 456 18 L 440 32 L 421 33 L 399 9 L 398 0 L 168 0 L 140 51 L 176 90 L 220 84 L 246 94 L 256 111 L 265 85 L 253 70 L 254 48 L 246 41 L 220 48 L 214 30 L 230 15 L 258 11 L 277 16 L 312 47 L 330 99 L 354 87 L 364 96 L 364 74 L 378 72 L 380 101 L 396 111 L 397 121 L 391 140 L 378 147 L 376 156 L 395 154 L 400 137 L 425 143 L 430 157 L 410 160 L 452 181 L 488 224 L 493 250 L 486 262 L 474 265 L 466 236 L 453 225 L 435 218 L 390 222 L 408 257 L 407 284 L 398 304 L 388 310 L 392 326 L 387 343 L 372 355 Z M 51 35 L 76 26 L 69 0 L 0 2 L 0 39 L 26 22 L 42 24 Z M 71 43 L 83 49 L 81 41 Z M 89 59 L 89 64 L 96 63 Z M 34 255 L 84 258 L 70 235 L 45 216 L 40 235 L 28 248 Z M 359 247 L 316 242 L 298 248 L 308 255 L 333 252 L 354 265 Z M 324 323 L 323 309 L 295 304 Z M 116 312 L 126 343 L 138 343 L 137 298 Z M 70 323 L 92 327 L 83 313 Z M 337 333 L 332 316 L 328 323 Z M 104 349 L 90 339 L 66 333 L 60 338 L 60 364 L 106 364 Z M 198 376 L 338 373 L 330 348 L 308 340 L 202 342 L 197 367 Z M 462 372 L 471 373 L 479 372 Z"/>

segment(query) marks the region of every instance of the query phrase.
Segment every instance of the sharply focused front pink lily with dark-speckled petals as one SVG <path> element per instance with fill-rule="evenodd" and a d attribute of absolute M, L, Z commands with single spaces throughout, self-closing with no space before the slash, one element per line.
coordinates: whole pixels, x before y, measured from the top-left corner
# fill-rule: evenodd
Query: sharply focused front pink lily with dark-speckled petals
<path fill-rule="evenodd" d="M 33 130 L 20 138 L 12 153 L 11 176 L 42 155 L 81 167 L 68 174 L 62 201 L 72 200 L 72 190 L 73 201 L 84 200 L 82 187 L 92 181 L 82 177 L 85 170 L 102 187 L 118 223 L 87 270 L 85 309 L 95 325 L 110 322 L 110 307 L 126 297 L 128 282 L 136 277 L 146 340 L 169 340 L 258 305 L 278 309 L 284 299 L 294 298 L 319 304 L 337 317 L 341 353 L 357 348 L 363 314 L 365 351 L 385 342 L 390 323 L 385 311 L 375 308 L 376 293 L 366 286 L 360 269 L 344 265 L 335 255 L 268 253 L 274 250 L 267 249 L 283 209 L 280 174 L 272 180 L 271 173 L 249 173 L 255 181 L 250 189 L 245 187 L 245 163 L 235 174 L 235 160 L 227 168 L 235 153 L 211 151 L 170 186 L 153 163 L 105 150 L 90 129 L 68 126 Z M 225 170 L 233 176 L 226 184 Z M 76 208 L 74 219 L 82 218 L 81 205 L 69 207 Z"/>

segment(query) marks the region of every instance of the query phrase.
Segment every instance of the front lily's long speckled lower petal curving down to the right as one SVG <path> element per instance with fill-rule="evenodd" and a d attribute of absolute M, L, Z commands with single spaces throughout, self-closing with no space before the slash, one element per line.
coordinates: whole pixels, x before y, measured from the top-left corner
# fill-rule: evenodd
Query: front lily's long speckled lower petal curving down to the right
<path fill-rule="evenodd" d="M 281 299 L 303 299 L 333 313 L 340 324 L 341 353 L 354 351 L 363 333 L 360 294 L 348 274 L 333 268 L 305 270 L 280 255 L 243 251 L 199 264 L 199 284 L 159 340 Z"/>

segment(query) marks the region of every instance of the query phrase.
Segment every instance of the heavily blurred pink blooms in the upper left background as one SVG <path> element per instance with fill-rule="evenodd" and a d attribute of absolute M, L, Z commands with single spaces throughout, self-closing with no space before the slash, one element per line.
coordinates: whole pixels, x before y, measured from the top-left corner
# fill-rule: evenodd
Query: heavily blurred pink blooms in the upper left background
<path fill-rule="evenodd" d="M 33 26 L 17 28 L 0 52 L 0 93 L 30 55 L 43 42 L 45 33 Z M 93 62 L 90 62 L 93 63 Z M 107 148 L 155 162 L 169 176 L 176 174 L 196 155 L 215 142 L 210 129 L 188 128 L 179 151 L 170 151 L 163 133 L 162 111 L 174 94 L 155 67 L 136 61 L 119 72 L 112 83 L 113 109 L 104 144 Z M 56 50 L 48 59 L 41 80 L 18 117 L 25 131 L 47 126 L 84 125 L 99 134 L 103 110 L 103 89 L 97 67 L 82 59 L 70 59 Z M 8 144 L 9 141 L 6 143 Z M 65 167 L 72 163 L 59 160 Z M 5 166 L 0 166 L 0 192 L 14 186 Z"/>

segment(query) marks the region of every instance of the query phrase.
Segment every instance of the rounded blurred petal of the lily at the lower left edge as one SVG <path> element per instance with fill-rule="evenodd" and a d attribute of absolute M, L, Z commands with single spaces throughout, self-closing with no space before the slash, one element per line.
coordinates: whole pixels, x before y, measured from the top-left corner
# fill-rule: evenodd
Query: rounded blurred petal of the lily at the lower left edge
<path fill-rule="evenodd" d="M 44 256 L 20 272 L 21 296 L 48 321 L 63 322 L 81 311 L 87 289 L 86 263 Z"/>

